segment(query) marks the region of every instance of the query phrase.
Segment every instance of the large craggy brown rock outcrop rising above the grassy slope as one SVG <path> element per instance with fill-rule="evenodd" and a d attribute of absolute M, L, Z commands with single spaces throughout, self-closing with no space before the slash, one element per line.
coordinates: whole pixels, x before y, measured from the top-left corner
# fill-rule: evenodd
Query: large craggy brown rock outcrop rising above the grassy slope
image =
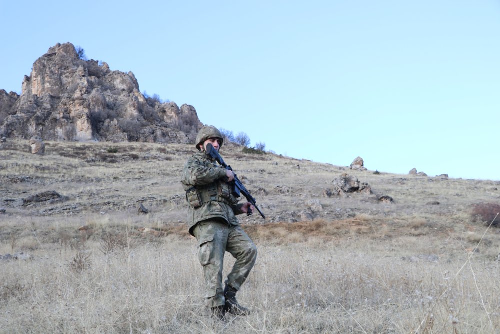
<path fill-rule="evenodd" d="M 132 72 L 80 59 L 71 43 L 34 62 L 21 95 L 0 90 L 0 137 L 188 143 L 201 125 L 194 107 L 144 96 Z"/>

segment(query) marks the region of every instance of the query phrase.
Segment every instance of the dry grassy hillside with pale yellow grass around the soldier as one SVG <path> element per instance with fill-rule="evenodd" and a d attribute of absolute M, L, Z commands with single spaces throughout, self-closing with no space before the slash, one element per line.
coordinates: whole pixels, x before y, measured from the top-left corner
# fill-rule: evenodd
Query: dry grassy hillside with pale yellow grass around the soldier
<path fill-rule="evenodd" d="M 38 156 L 2 143 L 0 332 L 500 332 L 500 229 L 488 227 L 500 182 L 235 145 L 220 153 L 266 219 L 240 216 L 259 251 L 238 294 L 253 312 L 214 322 L 179 183 L 193 152 L 47 142 Z M 343 173 L 372 193 L 325 195 Z"/>

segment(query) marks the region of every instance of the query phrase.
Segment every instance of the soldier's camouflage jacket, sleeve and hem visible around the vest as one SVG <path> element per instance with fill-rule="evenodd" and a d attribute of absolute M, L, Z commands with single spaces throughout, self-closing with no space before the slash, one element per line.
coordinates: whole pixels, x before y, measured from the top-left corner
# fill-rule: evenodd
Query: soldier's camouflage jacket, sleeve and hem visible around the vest
<path fill-rule="evenodd" d="M 196 152 L 192 157 L 187 159 L 182 169 L 182 179 L 180 183 L 184 190 L 191 187 L 202 188 L 203 186 L 212 184 L 216 181 L 222 181 L 225 176 L 225 169 L 217 165 L 214 159 L 211 159 L 205 152 Z M 234 199 L 237 203 L 237 199 Z M 239 225 L 235 215 L 241 214 L 241 205 L 231 205 L 224 201 L 213 200 L 203 203 L 200 207 L 187 209 L 187 224 L 189 234 L 192 235 L 191 229 L 199 221 L 206 219 L 221 219 L 230 225 Z"/>

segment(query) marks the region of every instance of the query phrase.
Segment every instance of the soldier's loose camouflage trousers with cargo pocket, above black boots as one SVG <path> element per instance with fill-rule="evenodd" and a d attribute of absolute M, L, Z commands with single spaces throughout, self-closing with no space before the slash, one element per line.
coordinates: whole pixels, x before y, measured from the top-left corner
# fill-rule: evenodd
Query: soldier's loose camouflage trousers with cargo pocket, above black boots
<path fill-rule="evenodd" d="M 239 290 L 255 263 L 257 248 L 241 227 L 225 222 L 200 221 L 192 231 L 198 240 L 198 259 L 205 278 L 205 303 L 208 307 L 223 305 L 224 252 L 236 259 L 225 284 Z"/>

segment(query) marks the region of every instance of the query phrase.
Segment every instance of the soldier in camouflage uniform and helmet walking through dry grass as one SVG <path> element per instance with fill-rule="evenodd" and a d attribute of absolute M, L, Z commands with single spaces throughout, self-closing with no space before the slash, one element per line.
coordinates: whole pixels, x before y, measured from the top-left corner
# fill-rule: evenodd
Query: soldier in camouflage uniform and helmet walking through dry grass
<path fill-rule="evenodd" d="M 248 314 L 248 308 L 236 301 L 236 292 L 248 276 L 255 259 L 255 244 L 239 226 L 236 215 L 253 211 L 251 203 L 240 203 L 231 192 L 234 174 L 206 154 L 210 143 L 217 151 L 223 143 L 222 134 L 213 126 L 202 127 L 196 136 L 198 150 L 187 159 L 182 170 L 182 187 L 189 204 L 189 234 L 198 240 L 198 259 L 205 279 L 205 302 L 211 314 L 223 318 L 226 312 Z M 222 290 L 224 252 L 236 261 L 227 275 Z"/>

